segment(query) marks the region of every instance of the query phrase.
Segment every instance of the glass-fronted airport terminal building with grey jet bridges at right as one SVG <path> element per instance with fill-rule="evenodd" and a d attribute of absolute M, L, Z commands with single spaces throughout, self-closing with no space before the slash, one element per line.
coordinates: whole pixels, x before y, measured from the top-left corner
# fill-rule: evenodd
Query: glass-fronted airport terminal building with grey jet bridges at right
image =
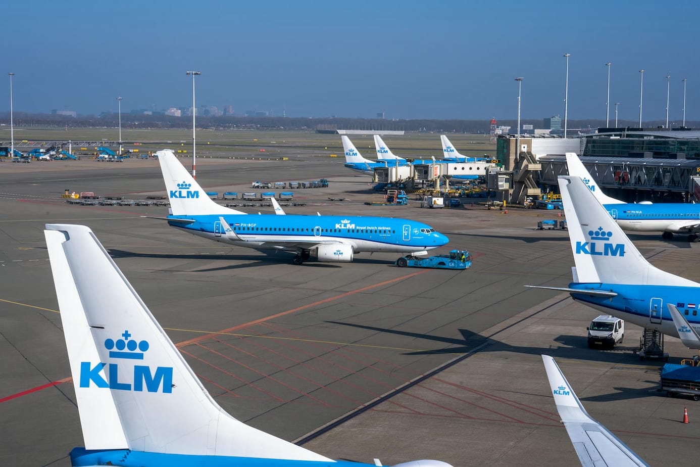
<path fill-rule="evenodd" d="M 496 155 L 512 172 L 510 202 L 557 191 L 556 177 L 566 175 L 567 152 L 584 165 L 608 195 L 630 202 L 700 200 L 700 131 L 601 128 L 577 138 L 499 137 Z M 697 183 L 696 183 L 697 181 Z M 698 193 L 695 193 L 698 191 Z"/>

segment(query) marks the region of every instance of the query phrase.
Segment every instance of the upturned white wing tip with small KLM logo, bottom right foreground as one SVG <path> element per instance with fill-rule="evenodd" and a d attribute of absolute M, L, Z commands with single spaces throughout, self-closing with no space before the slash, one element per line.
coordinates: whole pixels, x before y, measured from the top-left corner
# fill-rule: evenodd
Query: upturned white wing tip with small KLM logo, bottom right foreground
<path fill-rule="evenodd" d="M 584 467 L 648 466 L 624 442 L 591 418 L 554 358 L 542 355 L 556 410 Z"/>

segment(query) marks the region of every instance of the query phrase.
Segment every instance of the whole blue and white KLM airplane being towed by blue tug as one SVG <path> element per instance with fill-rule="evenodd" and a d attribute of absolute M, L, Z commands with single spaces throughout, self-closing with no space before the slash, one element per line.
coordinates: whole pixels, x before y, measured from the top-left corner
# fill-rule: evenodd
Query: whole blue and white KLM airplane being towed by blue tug
<path fill-rule="evenodd" d="M 296 253 L 302 264 L 311 253 L 322 262 L 349 263 L 362 252 L 425 255 L 449 239 L 430 225 L 402 218 L 370 216 L 300 216 L 276 214 L 246 216 L 204 195 L 202 187 L 169 149 L 158 151 L 158 162 L 170 201 L 167 217 L 172 227 L 193 235 L 258 250 Z M 200 196 L 201 195 L 201 196 Z"/>

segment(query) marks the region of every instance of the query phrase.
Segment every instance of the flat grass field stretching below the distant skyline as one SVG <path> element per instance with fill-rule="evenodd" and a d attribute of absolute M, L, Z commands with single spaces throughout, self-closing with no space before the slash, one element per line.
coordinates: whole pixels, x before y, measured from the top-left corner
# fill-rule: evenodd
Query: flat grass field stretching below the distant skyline
<path fill-rule="evenodd" d="M 123 147 L 138 149 L 139 153 L 171 148 L 174 151 L 192 152 L 191 130 L 134 130 L 122 129 Z M 442 158 L 442 146 L 438 133 L 409 133 L 403 136 L 384 137 L 384 142 L 396 155 L 407 158 Z M 449 134 L 457 150 L 465 155 L 495 155 L 496 145 L 489 144 L 485 134 Z M 40 146 L 41 141 L 116 141 L 116 128 L 41 128 L 15 127 L 15 147 L 26 152 Z M 0 127 L 0 146 L 9 146 L 10 128 Z M 27 141 L 27 143 L 22 143 Z M 375 159 L 372 135 L 355 135 L 351 141 L 368 159 Z M 31 143 L 37 143 L 31 146 Z M 134 144 L 139 143 L 139 144 Z M 260 151 L 265 150 L 265 151 Z M 73 144 L 76 153 L 93 153 L 94 147 L 81 151 Z M 290 153 L 291 151 L 291 153 Z M 327 157 L 342 157 L 343 148 L 337 134 L 317 134 L 309 130 L 197 130 L 197 155 L 212 157 L 262 157 L 274 158 L 294 153 Z"/>

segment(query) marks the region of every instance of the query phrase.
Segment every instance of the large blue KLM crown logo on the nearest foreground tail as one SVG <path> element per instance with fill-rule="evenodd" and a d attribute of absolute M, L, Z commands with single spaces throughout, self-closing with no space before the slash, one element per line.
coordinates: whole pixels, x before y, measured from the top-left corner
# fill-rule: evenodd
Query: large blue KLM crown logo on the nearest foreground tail
<path fill-rule="evenodd" d="M 122 334 L 124 339 L 116 342 L 112 339 L 104 341 L 104 347 L 109 350 L 109 358 L 124 360 L 143 360 L 144 353 L 148 351 L 148 341 L 130 340 L 132 335 L 128 330 Z M 106 368 L 105 368 L 106 367 Z M 100 374 L 104 370 L 107 379 Z M 120 375 L 121 370 L 121 375 Z M 133 379 L 127 381 L 130 376 Z M 123 378 L 120 381 L 120 377 Z M 99 388 L 119 389 L 120 391 L 148 391 L 172 393 L 173 369 L 172 367 L 159 366 L 155 372 L 147 365 L 128 365 L 127 363 L 97 363 L 92 365 L 88 361 L 80 362 L 80 387 L 89 388 L 90 383 Z"/>

